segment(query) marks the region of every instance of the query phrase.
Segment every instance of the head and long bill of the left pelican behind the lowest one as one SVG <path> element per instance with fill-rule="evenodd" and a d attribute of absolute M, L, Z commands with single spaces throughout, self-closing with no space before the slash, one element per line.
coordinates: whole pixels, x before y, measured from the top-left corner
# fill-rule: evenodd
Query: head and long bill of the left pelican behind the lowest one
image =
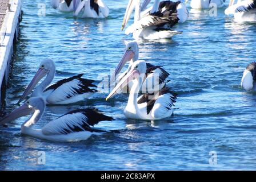
<path fill-rule="evenodd" d="M 43 60 L 41 62 L 41 64 L 39 65 L 39 69 L 37 71 L 37 73 L 35 73 L 35 76 L 33 77 L 33 79 L 31 80 L 30 84 L 27 86 L 27 89 L 25 90 L 25 92 L 23 93 L 23 95 L 21 96 L 21 98 L 18 101 L 18 104 L 25 100 L 25 98 L 32 92 L 32 90 L 35 88 L 35 85 L 37 85 L 37 83 L 46 75 L 48 75 L 50 72 L 53 73 L 53 75 L 55 75 L 55 64 L 53 62 L 53 60 L 51 59 L 46 59 Z"/>

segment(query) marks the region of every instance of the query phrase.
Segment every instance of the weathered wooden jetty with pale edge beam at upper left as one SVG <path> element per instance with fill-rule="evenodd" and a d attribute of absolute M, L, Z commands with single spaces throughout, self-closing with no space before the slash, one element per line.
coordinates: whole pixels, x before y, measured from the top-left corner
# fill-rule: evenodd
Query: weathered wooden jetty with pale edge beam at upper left
<path fill-rule="evenodd" d="M 18 41 L 22 0 L 0 0 L 0 105 L 9 81 L 13 46 Z"/>

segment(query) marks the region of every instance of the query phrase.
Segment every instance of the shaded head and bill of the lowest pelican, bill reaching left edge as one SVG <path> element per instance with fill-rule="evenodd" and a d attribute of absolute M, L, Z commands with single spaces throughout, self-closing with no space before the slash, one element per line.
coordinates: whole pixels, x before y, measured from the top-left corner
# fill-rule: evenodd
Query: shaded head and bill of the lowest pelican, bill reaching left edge
<path fill-rule="evenodd" d="M 18 109 L 13 110 L 10 114 L 0 119 L 0 124 L 3 125 L 7 122 L 11 122 L 17 118 L 23 117 L 34 113 L 35 110 L 44 111 L 45 101 L 42 97 L 31 97 Z"/>

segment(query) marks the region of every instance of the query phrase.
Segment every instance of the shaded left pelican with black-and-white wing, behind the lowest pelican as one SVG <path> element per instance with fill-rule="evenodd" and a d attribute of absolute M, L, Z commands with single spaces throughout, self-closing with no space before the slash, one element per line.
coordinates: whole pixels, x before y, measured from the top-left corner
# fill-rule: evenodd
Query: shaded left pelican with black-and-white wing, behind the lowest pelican
<path fill-rule="evenodd" d="M 45 80 L 35 88 L 37 83 L 45 76 Z M 50 85 L 54 76 L 55 64 L 53 60 L 43 60 L 33 80 L 31 80 L 30 84 L 27 86 L 27 89 L 18 103 L 25 100 L 34 88 L 34 92 L 31 96 L 42 96 L 45 98 L 46 104 L 71 104 L 84 100 L 94 92 L 97 92 L 96 89 L 93 89 L 97 88 L 97 86 L 93 84 L 94 80 L 82 78 L 83 74 L 65 78 Z"/>

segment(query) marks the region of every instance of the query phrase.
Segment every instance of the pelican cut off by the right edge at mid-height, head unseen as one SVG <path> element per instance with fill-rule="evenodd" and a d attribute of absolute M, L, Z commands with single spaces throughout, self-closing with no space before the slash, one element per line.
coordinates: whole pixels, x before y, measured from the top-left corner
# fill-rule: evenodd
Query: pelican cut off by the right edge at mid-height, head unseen
<path fill-rule="evenodd" d="M 243 72 L 241 86 L 247 91 L 256 91 L 256 62 L 247 65 Z"/>

